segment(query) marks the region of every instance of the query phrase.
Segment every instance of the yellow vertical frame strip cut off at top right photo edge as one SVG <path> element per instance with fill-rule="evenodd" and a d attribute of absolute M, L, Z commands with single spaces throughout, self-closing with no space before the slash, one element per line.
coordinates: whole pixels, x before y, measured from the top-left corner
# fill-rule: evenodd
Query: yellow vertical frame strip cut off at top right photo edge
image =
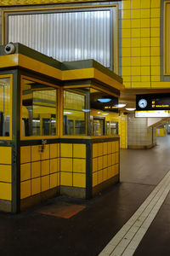
<path fill-rule="evenodd" d="M 163 16 L 163 39 L 164 39 L 164 51 L 163 51 L 163 74 L 165 76 L 170 75 L 170 70 L 167 71 L 167 4 L 170 4 L 170 1 L 164 2 L 164 16 Z M 169 53 L 170 54 L 170 53 Z M 170 69 L 170 67 L 169 67 Z"/>

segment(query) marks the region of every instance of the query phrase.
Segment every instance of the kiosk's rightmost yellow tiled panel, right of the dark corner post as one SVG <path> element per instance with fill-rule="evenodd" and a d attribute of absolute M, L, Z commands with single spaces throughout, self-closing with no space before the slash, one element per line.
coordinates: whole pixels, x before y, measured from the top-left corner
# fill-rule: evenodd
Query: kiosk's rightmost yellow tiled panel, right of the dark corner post
<path fill-rule="evenodd" d="M 93 187 L 119 173 L 119 142 L 93 144 Z"/>

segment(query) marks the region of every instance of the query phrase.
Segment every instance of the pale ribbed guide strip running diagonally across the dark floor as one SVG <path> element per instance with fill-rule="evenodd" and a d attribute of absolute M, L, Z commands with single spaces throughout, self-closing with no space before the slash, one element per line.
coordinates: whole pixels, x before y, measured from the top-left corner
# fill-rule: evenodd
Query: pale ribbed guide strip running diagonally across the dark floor
<path fill-rule="evenodd" d="M 109 255 L 111 255 L 111 256 L 114 256 L 114 255 L 115 256 L 117 256 L 117 255 L 123 255 L 123 256 L 133 255 L 134 251 L 136 250 L 136 247 L 134 249 L 134 246 L 132 248 L 132 247 L 129 246 L 129 244 L 133 240 L 135 240 L 135 237 L 139 235 L 139 230 L 142 229 L 143 230 L 143 235 L 142 236 L 140 235 L 141 236 L 140 240 L 139 240 L 139 242 L 140 242 L 141 239 L 143 238 L 145 232 L 148 230 L 151 222 L 156 217 L 156 213 L 159 211 L 163 201 L 167 197 L 167 194 L 168 194 L 168 192 L 170 190 L 170 185 L 169 185 L 168 180 L 170 180 L 170 171 L 167 172 L 166 176 L 161 179 L 161 182 L 158 183 L 156 188 L 150 193 L 150 195 L 146 198 L 146 200 L 139 207 L 139 209 L 136 212 L 134 212 L 133 216 L 128 219 L 127 223 L 122 226 L 122 229 L 119 230 L 116 233 L 116 236 L 114 236 L 111 239 L 111 241 L 105 246 L 105 248 L 102 250 L 102 252 L 99 253 L 99 256 L 102 256 L 102 255 L 103 256 L 104 255 L 105 256 L 109 256 Z M 162 195 L 163 195 L 163 200 L 161 201 Z M 153 205 L 153 201 L 155 202 L 154 205 Z M 161 201 L 161 204 L 160 204 L 160 201 Z M 158 205 L 160 204 L 160 206 L 157 207 L 156 213 L 153 214 L 152 212 L 153 212 L 153 210 L 154 210 L 154 208 L 156 207 L 157 204 Z M 153 205 L 151 207 L 151 209 L 150 209 L 150 205 L 151 206 Z M 148 212 L 148 210 L 149 210 L 149 212 Z M 150 218 L 151 219 L 150 224 L 148 225 L 147 229 L 145 228 L 145 231 L 144 231 L 144 228 L 142 226 L 144 225 L 144 223 L 147 220 L 147 218 L 150 217 L 150 214 L 152 214 L 152 218 Z M 153 218 L 153 216 L 154 216 L 154 218 Z M 140 224 L 138 222 L 139 218 L 143 219 L 142 221 L 140 221 Z M 133 229 L 133 232 L 132 232 L 131 229 Z M 136 230 L 136 231 L 134 231 L 134 230 Z M 130 240 L 127 239 L 127 237 L 126 237 L 126 236 L 129 235 L 128 233 L 132 233 L 133 234 L 133 236 L 131 235 L 132 237 L 130 238 Z M 124 245 L 123 245 L 123 243 L 124 243 Z M 139 245 L 139 243 L 138 243 L 138 245 Z M 138 245 L 137 245 L 137 247 L 138 247 Z M 127 253 L 126 254 L 122 254 L 122 253 L 124 253 L 124 251 L 127 252 L 127 250 L 129 252 L 131 251 L 131 253 L 130 254 L 127 254 Z M 119 251 L 119 253 L 117 251 Z"/>

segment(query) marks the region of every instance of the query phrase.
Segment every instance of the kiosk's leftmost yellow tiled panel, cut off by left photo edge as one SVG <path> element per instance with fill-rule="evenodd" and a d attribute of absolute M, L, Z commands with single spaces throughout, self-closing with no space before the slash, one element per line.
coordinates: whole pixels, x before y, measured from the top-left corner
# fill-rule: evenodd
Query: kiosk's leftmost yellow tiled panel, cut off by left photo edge
<path fill-rule="evenodd" d="M 12 148 L 0 147 L 0 200 L 12 201 Z"/>

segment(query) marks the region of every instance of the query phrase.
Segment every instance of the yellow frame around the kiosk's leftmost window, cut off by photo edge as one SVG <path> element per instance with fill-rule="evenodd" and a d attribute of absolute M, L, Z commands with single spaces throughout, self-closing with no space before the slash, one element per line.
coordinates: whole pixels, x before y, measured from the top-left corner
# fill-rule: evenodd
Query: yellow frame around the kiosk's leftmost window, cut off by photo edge
<path fill-rule="evenodd" d="M 10 104 L 9 104 L 9 113 L 10 113 L 10 121 L 9 121 L 9 136 L 8 137 L 0 137 L 0 140 L 12 140 L 13 133 L 13 74 L 4 74 L 0 75 L 0 79 L 10 79 Z"/>

